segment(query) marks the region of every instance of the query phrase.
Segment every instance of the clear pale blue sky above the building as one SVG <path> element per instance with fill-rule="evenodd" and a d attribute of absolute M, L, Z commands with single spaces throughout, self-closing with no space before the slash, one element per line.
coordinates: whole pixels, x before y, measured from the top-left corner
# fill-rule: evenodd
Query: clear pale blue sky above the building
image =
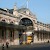
<path fill-rule="evenodd" d="M 0 0 L 0 8 L 12 9 L 15 3 L 17 8 L 27 7 L 27 0 Z M 28 8 L 37 21 L 50 24 L 50 0 L 29 0 Z"/>

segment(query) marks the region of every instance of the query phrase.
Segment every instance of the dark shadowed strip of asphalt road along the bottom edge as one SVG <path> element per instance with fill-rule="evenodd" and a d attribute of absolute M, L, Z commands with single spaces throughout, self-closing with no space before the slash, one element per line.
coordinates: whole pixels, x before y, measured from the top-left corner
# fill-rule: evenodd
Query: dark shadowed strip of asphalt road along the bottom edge
<path fill-rule="evenodd" d="M 31 48 L 23 47 L 23 48 L 8 48 L 5 50 L 50 50 L 50 47 L 31 47 Z"/>

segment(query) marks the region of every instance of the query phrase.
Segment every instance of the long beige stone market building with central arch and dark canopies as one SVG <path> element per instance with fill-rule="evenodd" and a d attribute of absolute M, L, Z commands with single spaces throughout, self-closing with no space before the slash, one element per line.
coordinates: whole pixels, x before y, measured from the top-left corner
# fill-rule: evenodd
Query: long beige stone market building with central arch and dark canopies
<path fill-rule="evenodd" d="M 0 8 L 0 45 L 44 43 L 50 41 L 50 26 L 37 21 L 28 8 Z"/>

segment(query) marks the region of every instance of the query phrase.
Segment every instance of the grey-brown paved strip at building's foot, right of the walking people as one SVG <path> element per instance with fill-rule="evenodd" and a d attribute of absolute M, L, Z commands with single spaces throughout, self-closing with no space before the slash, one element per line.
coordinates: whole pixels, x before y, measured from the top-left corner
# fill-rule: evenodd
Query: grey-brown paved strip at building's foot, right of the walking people
<path fill-rule="evenodd" d="M 30 48 L 30 47 L 48 47 L 48 46 L 50 46 L 50 43 L 34 43 L 34 44 L 23 44 L 23 45 L 11 45 L 11 46 L 9 46 L 10 48 L 23 48 L 23 47 L 28 47 L 28 48 Z"/>

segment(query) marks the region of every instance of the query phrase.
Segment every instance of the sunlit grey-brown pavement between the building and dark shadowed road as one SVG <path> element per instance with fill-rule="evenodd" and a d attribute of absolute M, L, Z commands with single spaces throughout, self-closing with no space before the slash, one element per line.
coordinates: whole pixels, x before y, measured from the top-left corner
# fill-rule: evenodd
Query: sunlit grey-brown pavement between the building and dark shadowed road
<path fill-rule="evenodd" d="M 44 48 L 44 47 L 50 47 L 50 43 L 34 43 L 32 45 L 10 45 L 9 48 L 7 49 L 6 46 L 4 47 L 5 50 L 11 50 L 11 49 L 18 49 L 18 48 Z M 2 50 L 2 46 L 0 46 L 0 50 Z"/>

